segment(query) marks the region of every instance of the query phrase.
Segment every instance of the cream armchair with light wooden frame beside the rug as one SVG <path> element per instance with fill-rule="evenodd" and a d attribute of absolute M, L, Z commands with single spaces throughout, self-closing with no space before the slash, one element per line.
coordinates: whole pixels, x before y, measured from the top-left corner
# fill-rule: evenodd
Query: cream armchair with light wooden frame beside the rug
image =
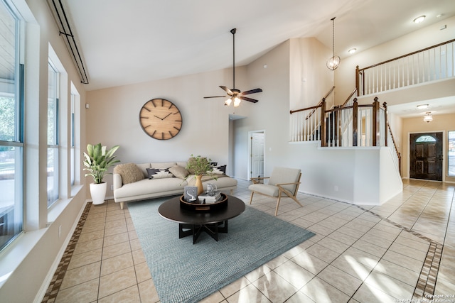
<path fill-rule="evenodd" d="M 301 170 L 297 168 L 274 167 L 270 177 L 251 178 L 253 184 L 248 187 L 251 190 L 250 204 L 255 193 L 263 194 L 267 197 L 277 197 L 277 208 L 275 209 L 275 216 L 277 216 L 279 202 L 284 194 L 284 197 L 289 197 L 302 206 L 296 197 L 300 185 L 300 177 Z M 264 180 L 268 180 L 268 182 L 266 184 L 262 183 Z"/>

